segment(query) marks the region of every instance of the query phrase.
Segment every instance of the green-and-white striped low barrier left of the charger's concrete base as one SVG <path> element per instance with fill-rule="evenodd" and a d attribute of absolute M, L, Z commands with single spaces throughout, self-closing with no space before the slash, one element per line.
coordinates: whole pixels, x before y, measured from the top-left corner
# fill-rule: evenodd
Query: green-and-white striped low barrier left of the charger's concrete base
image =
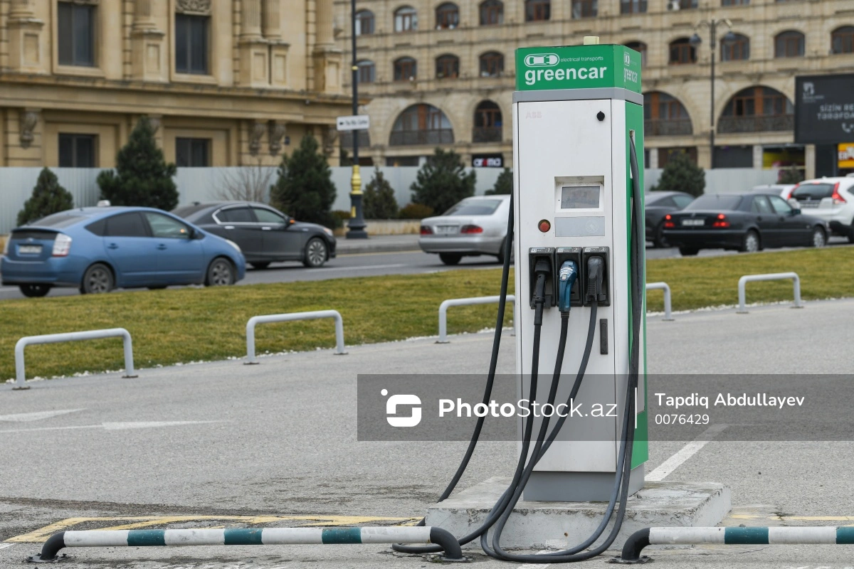
<path fill-rule="evenodd" d="M 443 560 L 465 561 L 459 543 L 441 527 L 265 527 L 191 530 L 60 531 L 44 543 L 32 563 L 53 562 L 63 548 L 173 547 L 187 545 L 298 545 L 341 543 L 436 543 Z"/>

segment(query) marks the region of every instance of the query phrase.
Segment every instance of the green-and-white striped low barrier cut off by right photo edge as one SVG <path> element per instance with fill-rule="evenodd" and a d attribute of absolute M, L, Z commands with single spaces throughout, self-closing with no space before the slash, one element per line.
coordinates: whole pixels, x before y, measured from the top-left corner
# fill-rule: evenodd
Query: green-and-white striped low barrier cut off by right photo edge
<path fill-rule="evenodd" d="M 803 525 L 799 527 L 647 527 L 635 531 L 625 545 L 623 554 L 612 563 L 646 563 L 651 559 L 640 552 L 647 545 L 694 545 L 722 543 L 723 545 L 852 545 L 854 527 Z"/>

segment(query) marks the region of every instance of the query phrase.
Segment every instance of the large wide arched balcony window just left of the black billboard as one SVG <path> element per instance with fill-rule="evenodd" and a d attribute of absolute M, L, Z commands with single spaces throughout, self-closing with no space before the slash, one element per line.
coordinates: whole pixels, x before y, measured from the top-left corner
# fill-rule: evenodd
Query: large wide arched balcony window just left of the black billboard
<path fill-rule="evenodd" d="M 794 107 L 787 96 L 770 87 L 740 90 L 723 108 L 718 132 L 792 131 Z"/>

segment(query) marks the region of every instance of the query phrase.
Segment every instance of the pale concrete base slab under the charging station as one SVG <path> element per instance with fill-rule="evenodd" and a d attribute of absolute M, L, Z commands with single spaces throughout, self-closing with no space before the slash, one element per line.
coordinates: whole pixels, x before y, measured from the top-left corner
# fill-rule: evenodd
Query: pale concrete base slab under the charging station
<path fill-rule="evenodd" d="M 451 496 L 427 510 L 427 525 L 461 537 L 486 519 L 510 484 L 494 477 Z M 520 500 L 501 533 L 506 549 L 567 549 L 586 539 L 600 524 L 607 502 L 529 502 Z M 611 549 L 622 549 L 633 532 L 652 525 L 717 525 L 729 513 L 729 488 L 714 482 L 646 482 L 629 496 L 626 519 Z M 611 525 L 605 530 L 605 535 Z M 491 538 L 490 538 L 491 539 Z M 479 548 L 479 541 L 467 547 Z"/>

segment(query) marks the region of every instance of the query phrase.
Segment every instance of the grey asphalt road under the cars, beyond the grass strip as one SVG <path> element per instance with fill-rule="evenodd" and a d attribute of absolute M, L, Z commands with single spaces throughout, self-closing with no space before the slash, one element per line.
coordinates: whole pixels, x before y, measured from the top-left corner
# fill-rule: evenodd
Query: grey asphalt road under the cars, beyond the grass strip
<path fill-rule="evenodd" d="M 847 244 L 845 238 L 832 237 L 832 247 Z M 423 253 L 418 249 L 418 235 L 380 235 L 368 240 L 338 239 L 339 255 L 330 259 L 319 269 L 307 269 L 299 262 L 274 263 L 266 269 L 246 270 L 246 278 L 238 285 L 262 282 L 325 281 L 350 276 L 416 275 L 445 270 L 494 269 L 500 267 L 496 258 L 488 255 L 465 257 L 456 266 L 442 264 L 438 255 Z M 782 251 L 783 249 L 771 249 Z M 734 251 L 704 249 L 699 257 L 735 255 Z M 656 249 L 647 247 L 646 258 L 679 258 L 679 250 L 673 247 Z M 133 289 L 136 290 L 136 289 Z M 117 290 L 115 292 L 133 292 Z M 48 296 L 79 294 L 75 288 L 54 288 Z M 0 300 L 22 299 L 18 287 L 0 287 Z"/>

